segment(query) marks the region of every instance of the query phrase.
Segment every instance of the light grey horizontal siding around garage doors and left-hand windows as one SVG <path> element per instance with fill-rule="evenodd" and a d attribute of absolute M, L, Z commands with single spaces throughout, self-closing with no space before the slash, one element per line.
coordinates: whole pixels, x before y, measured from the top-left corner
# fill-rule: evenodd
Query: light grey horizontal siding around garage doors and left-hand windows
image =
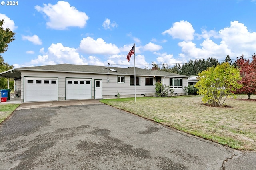
<path fill-rule="evenodd" d="M 58 77 L 58 100 L 66 100 L 66 78 L 84 78 L 92 79 L 92 99 L 94 99 L 94 80 L 102 80 L 102 98 L 114 98 L 117 91 L 121 93 L 121 97 L 134 96 L 134 86 L 130 85 L 130 77 L 132 75 L 124 76 L 124 83 L 117 83 L 118 75 L 101 75 L 101 74 L 84 74 L 84 73 L 60 73 L 60 72 L 46 72 L 46 71 L 22 71 L 21 81 L 21 99 L 24 99 L 24 77 Z M 144 94 L 154 94 L 154 85 L 145 85 L 145 77 L 140 77 L 140 85 L 136 86 L 136 96 L 144 96 Z M 109 79 L 109 82 L 107 82 Z M 168 81 L 169 83 L 169 81 Z"/>

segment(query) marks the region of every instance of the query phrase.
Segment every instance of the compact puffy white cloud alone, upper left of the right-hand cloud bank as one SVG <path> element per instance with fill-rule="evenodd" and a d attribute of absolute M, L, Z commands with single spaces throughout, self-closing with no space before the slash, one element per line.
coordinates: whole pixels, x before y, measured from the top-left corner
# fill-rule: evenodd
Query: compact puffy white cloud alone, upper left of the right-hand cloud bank
<path fill-rule="evenodd" d="M 194 28 L 190 22 L 180 21 L 172 24 L 172 27 L 162 32 L 162 34 L 169 34 L 172 38 L 178 38 L 185 41 L 194 39 Z"/>

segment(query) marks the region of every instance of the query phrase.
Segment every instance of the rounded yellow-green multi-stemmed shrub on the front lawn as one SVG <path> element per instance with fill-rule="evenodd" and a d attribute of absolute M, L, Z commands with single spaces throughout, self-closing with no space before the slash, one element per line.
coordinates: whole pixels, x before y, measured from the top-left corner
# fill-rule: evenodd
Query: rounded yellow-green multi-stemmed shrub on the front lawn
<path fill-rule="evenodd" d="M 204 103 L 208 102 L 215 107 L 223 105 L 228 95 L 234 95 L 233 92 L 242 87 L 238 83 L 242 79 L 239 69 L 227 62 L 202 71 L 198 74 L 198 79 L 195 85 L 198 88 L 197 93 L 204 95 L 202 98 Z M 225 96 L 226 98 L 222 100 Z"/>

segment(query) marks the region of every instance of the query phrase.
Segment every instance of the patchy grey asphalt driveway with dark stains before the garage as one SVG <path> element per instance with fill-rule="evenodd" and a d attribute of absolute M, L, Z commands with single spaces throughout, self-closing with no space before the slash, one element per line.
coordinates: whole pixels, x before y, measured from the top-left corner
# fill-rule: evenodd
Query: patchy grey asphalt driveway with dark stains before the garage
<path fill-rule="evenodd" d="M 241 152 L 105 104 L 17 109 L 0 124 L 0 169 L 254 170 Z"/>

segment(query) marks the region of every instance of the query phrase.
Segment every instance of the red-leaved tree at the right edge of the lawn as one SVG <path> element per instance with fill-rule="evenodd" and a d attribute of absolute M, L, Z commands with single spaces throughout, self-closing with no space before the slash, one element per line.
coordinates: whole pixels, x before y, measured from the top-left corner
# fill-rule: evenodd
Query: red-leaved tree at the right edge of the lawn
<path fill-rule="evenodd" d="M 238 83 L 242 83 L 243 87 L 237 89 L 238 94 L 247 94 L 251 99 L 252 94 L 256 94 L 256 55 L 252 55 L 252 61 L 244 59 L 244 55 L 240 56 L 236 61 L 237 67 L 240 69 L 242 79 Z"/>

